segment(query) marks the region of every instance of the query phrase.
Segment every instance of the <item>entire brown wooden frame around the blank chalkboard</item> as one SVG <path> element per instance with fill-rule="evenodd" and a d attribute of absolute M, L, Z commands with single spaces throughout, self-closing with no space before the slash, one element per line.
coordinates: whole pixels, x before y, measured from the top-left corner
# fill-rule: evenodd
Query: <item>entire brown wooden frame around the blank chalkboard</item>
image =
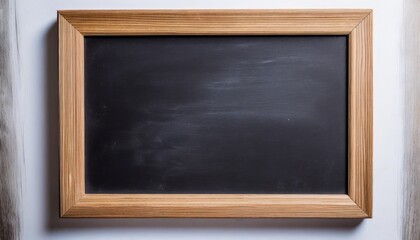
<path fill-rule="evenodd" d="M 371 10 L 59 11 L 62 217 L 372 216 Z M 348 35 L 348 195 L 86 194 L 84 36 Z"/>

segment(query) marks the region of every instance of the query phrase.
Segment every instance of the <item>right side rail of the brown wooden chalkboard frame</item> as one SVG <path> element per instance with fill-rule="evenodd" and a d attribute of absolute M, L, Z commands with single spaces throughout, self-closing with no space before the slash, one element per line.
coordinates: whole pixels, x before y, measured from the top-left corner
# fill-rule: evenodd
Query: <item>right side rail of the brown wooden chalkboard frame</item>
<path fill-rule="evenodd" d="M 349 196 L 372 216 L 372 14 L 349 35 Z"/>

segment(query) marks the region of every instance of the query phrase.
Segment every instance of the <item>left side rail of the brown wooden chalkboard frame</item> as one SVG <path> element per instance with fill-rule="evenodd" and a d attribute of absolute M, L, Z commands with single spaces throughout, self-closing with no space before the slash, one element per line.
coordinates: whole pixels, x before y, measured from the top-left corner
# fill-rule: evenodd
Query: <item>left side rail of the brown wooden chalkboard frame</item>
<path fill-rule="evenodd" d="M 61 213 L 84 194 L 83 36 L 58 16 Z"/>

